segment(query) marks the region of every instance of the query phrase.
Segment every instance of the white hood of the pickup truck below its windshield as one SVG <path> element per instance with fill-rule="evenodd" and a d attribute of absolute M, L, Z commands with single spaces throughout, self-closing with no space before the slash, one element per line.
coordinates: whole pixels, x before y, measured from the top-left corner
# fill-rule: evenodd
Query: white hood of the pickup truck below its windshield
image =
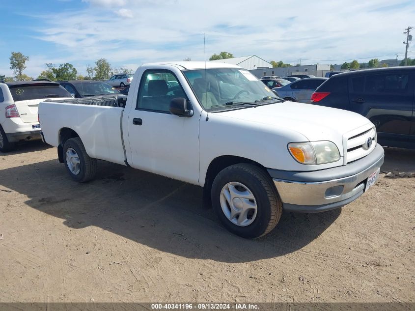
<path fill-rule="evenodd" d="M 343 135 L 360 127 L 374 127 L 364 116 L 350 111 L 282 102 L 220 113 L 301 133 L 309 141 L 332 141 L 342 150 Z M 342 152 L 341 152 L 342 153 Z"/>

